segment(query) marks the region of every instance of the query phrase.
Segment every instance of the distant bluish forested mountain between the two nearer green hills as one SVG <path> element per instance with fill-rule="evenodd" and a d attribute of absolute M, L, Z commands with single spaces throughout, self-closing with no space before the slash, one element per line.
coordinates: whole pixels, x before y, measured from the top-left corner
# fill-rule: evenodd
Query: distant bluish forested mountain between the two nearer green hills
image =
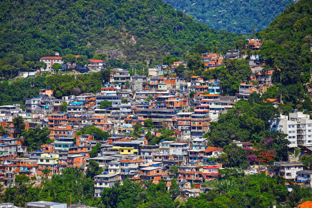
<path fill-rule="evenodd" d="M 284 11 L 291 0 L 167 0 L 175 9 L 209 27 L 243 34 L 261 31 Z"/>

